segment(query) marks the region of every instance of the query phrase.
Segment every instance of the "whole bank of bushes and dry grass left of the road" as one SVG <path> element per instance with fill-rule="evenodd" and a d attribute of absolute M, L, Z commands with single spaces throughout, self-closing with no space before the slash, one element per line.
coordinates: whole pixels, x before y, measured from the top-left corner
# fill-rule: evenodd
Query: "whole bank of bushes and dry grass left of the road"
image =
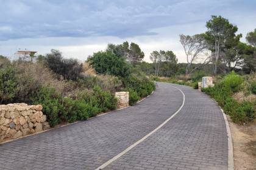
<path fill-rule="evenodd" d="M 136 56 L 130 57 L 136 62 Z M 155 89 L 143 72 L 109 50 L 94 53 L 85 63 L 63 58 L 58 50 L 34 62 L 4 56 L 0 62 L 0 104 L 42 104 L 50 126 L 116 109 L 116 91 L 129 91 L 133 105 Z"/>

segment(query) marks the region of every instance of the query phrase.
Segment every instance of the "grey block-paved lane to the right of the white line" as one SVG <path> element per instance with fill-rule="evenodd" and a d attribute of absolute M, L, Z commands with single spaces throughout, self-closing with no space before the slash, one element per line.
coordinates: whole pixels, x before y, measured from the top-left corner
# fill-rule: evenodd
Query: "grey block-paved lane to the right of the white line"
<path fill-rule="evenodd" d="M 105 169 L 227 169 L 221 110 L 207 95 L 177 87 L 185 94 L 179 114 Z"/>

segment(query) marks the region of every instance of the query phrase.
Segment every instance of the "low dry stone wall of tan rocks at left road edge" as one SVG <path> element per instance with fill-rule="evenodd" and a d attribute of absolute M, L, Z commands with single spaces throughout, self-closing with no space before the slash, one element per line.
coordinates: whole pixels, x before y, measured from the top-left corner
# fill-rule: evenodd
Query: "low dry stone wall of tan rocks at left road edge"
<path fill-rule="evenodd" d="M 41 105 L 0 105 L 0 142 L 49 129 Z"/>

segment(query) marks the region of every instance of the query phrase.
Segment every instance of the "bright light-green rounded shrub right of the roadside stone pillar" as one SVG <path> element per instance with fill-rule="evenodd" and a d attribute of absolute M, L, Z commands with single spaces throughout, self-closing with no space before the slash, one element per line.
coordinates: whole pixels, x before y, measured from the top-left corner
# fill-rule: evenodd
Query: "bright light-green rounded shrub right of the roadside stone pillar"
<path fill-rule="evenodd" d="M 238 90 L 243 87 L 243 77 L 240 75 L 237 75 L 235 72 L 231 72 L 229 75 L 224 77 L 224 79 L 221 80 L 220 85 L 227 90 L 230 90 L 231 92 L 235 93 L 238 92 Z"/>

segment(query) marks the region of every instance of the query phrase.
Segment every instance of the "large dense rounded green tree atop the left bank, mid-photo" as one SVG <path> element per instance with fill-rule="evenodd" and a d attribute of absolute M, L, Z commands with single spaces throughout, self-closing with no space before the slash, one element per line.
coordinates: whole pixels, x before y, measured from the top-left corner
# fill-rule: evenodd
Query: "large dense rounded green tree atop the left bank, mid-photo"
<path fill-rule="evenodd" d="M 127 77 L 130 72 L 129 65 L 126 61 L 109 51 L 94 53 L 93 56 L 89 56 L 87 61 L 96 72 L 101 74 Z"/>

